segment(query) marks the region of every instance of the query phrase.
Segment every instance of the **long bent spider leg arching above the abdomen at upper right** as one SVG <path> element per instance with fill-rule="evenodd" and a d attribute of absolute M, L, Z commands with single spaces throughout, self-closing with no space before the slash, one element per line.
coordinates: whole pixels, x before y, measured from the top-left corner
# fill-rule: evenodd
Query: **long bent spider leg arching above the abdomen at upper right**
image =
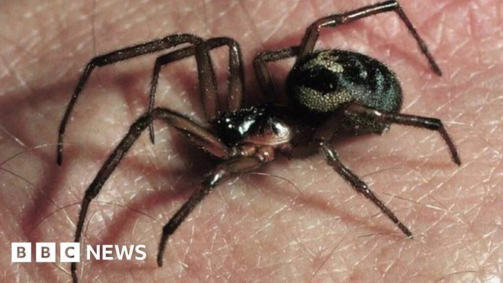
<path fill-rule="evenodd" d="M 365 6 L 360 9 L 356 9 L 344 14 L 334 14 L 327 17 L 323 17 L 315 21 L 311 24 L 302 39 L 302 43 L 300 45 L 299 55 L 297 60 L 302 59 L 307 53 L 311 52 L 314 48 L 316 40 L 319 36 L 319 31 L 322 28 L 335 28 L 342 24 L 347 24 L 358 19 L 366 18 L 372 15 L 390 12 L 393 11 L 400 17 L 400 20 L 405 24 L 410 34 L 414 37 L 417 42 L 417 45 L 420 47 L 421 52 L 426 56 L 428 62 L 430 63 L 430 67 L 433 72 L 438 76 L 442 76 L 442 71 L 440 70 L 438 64 L 435 62 L 433 55 L 428 51 L 428 47 L 426 46 L 425 41 L 419 36 L 414 26 L 410 22 L 410 20 L 403 12 L 402 8 L 396 1 L 385 1 L 382 3 Z"/>

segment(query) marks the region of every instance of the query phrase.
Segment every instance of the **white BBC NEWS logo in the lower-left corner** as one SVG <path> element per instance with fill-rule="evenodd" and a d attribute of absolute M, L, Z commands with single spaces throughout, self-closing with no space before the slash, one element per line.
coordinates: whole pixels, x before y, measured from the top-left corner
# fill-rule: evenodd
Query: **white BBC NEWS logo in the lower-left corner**
<path fill-rule="evenodd" d="M 97 260 L 143 260 L 147 257 L 145 245 L 91 245 L 86 246 L 86 259 Z M 35 243 L 35 262 L 56 262 L 56 243 Z M 114 257 L 115 255 L 115 257 Z M 31 262 L 32 243 L 12 243 L 12 262 Z M 80 244 L 59 243 L 60 262 L 80 262 Z"/>

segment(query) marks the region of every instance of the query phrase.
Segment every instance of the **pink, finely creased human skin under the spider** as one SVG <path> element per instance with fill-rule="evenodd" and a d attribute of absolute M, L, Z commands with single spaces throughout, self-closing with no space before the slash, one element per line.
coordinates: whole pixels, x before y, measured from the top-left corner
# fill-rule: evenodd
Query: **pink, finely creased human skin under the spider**
<path fill-rule="evenodd" d="M 11 263 L 11 242 L 70 242 L 79 202 L 107 155 L 145 111 L 155 55 L 95 70 L 58 124 L 95 55 L 169 34 L 241 43 L 246 104 L 264 101 L 251 62 L 299 43 L 329 13 L 373 1 L 4 1 L 0 5 L 0 281 L 68 282 L 69 264 Z M 441 118 L 436 132 L 394 125 L 340 139 L 341 160 L 415 233 L 406 239 L 319 155 L 280 157 L 232 178 L 199 205 L 155 262 L 162 225 L 215 161 L 155 123 L 90 208 L 86 244 L 144 244 L 143 261 L 84 260 L 81 282 L 500 282 L 503 278 L 503 2 L 401 1 L 444 76 L 436 77 L 393 13 L 325 30 L 317 48 L 376 57 L 401 80 L 402 112 Z M 212 53 L 225 88 L 226 50 Z M 292 60 L 272 64 L 278 89 Z M 194 59 L 162 70 L 156 105 L 201 120 Z M 284 94 L 278 91 L 279 96 Z M 18 155 L 19 154 L 19 155 Z"/>

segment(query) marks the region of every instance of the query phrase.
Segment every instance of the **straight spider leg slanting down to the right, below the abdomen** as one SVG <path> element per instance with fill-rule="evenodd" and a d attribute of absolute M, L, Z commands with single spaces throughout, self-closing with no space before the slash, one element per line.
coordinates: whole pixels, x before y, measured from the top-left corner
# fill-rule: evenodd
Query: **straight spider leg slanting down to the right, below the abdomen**
<path fill-rule="evenodd" d="M 334 151 L 330 146 L 328 146 L 325 142 L 319 142 L 319 149 L 322 151 L 325 156 L 326 162 L 339 173 L 348 183 L 353 186 L 353 188 L 363 194 L 366 198 L 372 201 L 381 211 L 395 223 L 398 228 L 405 234 L 407 237 L 412 238 L 413 234 L 410 230 L 393 214 L 393 212 L 369 189 L 367 184 L 362 181 L 355 173 L 351 172 L 351 170 L 346 167 L 338 158 L 338 154 Z"/>

